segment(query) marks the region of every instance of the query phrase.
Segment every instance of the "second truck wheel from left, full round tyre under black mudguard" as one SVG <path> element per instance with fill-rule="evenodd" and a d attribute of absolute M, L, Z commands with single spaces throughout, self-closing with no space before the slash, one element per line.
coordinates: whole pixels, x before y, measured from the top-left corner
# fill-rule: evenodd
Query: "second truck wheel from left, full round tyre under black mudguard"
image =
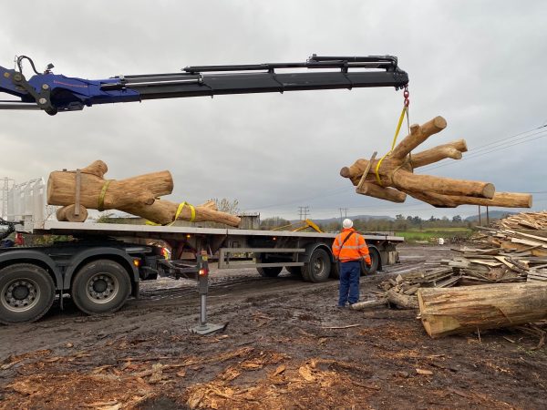
<path fill-rule="evenodd" d="M 77 308 L 88 314 L 116 312 L 129 297 L 128 272 L 117 262 L 89 262 L 72 282 L 71 295 Z"/>

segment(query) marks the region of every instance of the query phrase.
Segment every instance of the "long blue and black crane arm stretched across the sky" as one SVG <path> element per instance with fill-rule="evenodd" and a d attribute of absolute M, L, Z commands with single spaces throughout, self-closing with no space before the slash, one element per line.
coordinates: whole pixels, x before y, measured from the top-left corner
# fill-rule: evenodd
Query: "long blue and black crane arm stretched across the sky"
<path fill-rule="evenodd" d="M 22 72 L 25 59 L 36 73 L 28 80 Z M 98 80 L 53 74 L 51 64 L 38 73 L 26 56 L 18 57 L 16 66 L 0 66 L 0 92 L 19 98 L 0 101 L 0 109 L 42 109 L 49 115 L 145 99 L 408 85 L 408 74 L 397 67 L 395 56 L 314 55 L 304 63 L 185 67 L 181 73 Z"/>

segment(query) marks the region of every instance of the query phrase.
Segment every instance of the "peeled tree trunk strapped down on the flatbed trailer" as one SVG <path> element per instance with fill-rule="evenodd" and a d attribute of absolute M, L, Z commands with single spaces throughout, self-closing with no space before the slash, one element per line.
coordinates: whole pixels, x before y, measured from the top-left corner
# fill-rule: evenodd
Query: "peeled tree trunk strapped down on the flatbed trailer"
<path fill-rule="evenodd" d="M 216 209 L 213 201 L 199 206 L 160 200 L 173 190 L 168 170 L 129 179 L 104 179 L 108 167 L 101 160 L 86 168 L 54 171 L 47 180 L 47 203 L 60 205 L 57 220 L 83 222 L 91 210 L 121 210 L 167 225 L 175 220 L 212 221 L 238 226 L 241 219 Z"/>

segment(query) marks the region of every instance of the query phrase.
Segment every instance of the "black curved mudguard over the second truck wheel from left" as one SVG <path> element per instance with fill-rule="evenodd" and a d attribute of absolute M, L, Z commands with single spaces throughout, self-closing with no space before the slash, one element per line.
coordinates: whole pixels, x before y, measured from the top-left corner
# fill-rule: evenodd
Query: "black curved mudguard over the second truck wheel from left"
<path fill-rule="evenodd" d="M 70 289 L 74 275 L 84 265 L 91 261 L 97 261 L 99 259 L 106 259 L 108 261 L 115 261 L 119 263 L 126 272 L 128 272 L 129 280 L 131 282 L 132 293 L 135 294 L 139 288 L 139 270 L 133 265 L 133 259 L 125 252 L 115 248 L 93 248 L 86 251 L 81 251 L 75 255 L 65 272 L 65 282 L 63 289 Z"/>

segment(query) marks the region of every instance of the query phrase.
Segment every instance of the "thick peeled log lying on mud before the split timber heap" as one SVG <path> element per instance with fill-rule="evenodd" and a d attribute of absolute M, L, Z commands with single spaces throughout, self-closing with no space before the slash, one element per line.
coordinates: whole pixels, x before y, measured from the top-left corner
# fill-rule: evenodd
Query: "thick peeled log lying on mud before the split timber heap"
<path fill-rule="evenodd" d="M 418 290 L 421 321 L 433 338 L 547 318 L 547 284 L 499 283 Z"/>

